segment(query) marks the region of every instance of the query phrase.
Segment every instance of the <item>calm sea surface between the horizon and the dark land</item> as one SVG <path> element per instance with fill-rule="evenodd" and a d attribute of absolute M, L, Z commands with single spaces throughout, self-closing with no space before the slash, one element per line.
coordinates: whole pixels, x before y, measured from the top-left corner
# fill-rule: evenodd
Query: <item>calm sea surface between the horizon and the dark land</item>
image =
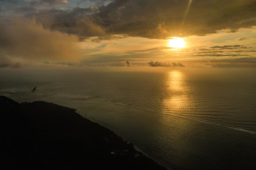
<path fill-rule="evenodd" d="M 0 77 L 0 95 L 76 108 L 173 170 L 256 169 L 256 68 L 2 69 Z"/>

